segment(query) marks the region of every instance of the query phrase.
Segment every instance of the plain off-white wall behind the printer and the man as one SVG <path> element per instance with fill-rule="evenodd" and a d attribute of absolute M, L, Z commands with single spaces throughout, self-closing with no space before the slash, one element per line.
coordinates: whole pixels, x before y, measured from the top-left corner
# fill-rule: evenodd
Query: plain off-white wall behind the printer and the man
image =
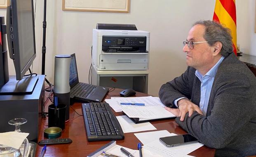
<path fill-rule="evenodd" d="M 35 0 L 34 0 L 35 1 Z M 88 82 L 91 64 L 92 29 L 96 23 L 135 24 L 150 32 L 150 75 L 148 93 L 158 95 L 160 86 L 186 69 L 182 41 L 193 22 L 211 20 L 215 1 L 131 0 L 130 13 L 62 11 L 62 0 L 47 1 L 46 68 L 53 83 L 54 55 L 76 53 L 79 78 Z M 256 55 L 254 33 L 255 0 L 236 0 L 237 43 L 244 53 Z M 5 9 L 0 9 L 5 15 Z M 35 14 L 37 58 L 33 71 L 41 73 L 43 0 L 37 0 Z M 14 68 L 9 59 L 10 75 Z"/>

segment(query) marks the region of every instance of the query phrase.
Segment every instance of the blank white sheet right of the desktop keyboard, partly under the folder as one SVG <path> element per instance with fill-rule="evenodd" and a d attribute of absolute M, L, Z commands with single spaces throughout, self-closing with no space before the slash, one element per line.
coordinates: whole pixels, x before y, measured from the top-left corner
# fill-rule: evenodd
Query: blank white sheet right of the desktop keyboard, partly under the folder
<path fill-rule="evenodd" d="M 119 121 L 124 133 L 156 130 L 156 128 L 149 122 L 135 124 L 127 116 L 117 116 L 116 118 Z"/>

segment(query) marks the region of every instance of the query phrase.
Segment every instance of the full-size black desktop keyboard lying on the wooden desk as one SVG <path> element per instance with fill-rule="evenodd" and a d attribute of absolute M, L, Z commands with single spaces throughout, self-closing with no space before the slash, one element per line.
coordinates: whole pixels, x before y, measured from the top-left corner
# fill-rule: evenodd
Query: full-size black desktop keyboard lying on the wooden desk
<path fill-rule="evenodd" d="M 124 139 L 124 133 L 106 102 L 82 104 L 88 141 Z"/>

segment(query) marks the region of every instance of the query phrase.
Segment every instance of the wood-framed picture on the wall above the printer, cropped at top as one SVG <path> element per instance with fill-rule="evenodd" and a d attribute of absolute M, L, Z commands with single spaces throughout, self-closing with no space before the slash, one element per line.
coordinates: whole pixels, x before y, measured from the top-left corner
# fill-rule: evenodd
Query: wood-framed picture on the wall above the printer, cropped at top
<path fill-rule="evenodd" d="M 130 0 L 62 0 L 62 10 L 129 13 Z"/>

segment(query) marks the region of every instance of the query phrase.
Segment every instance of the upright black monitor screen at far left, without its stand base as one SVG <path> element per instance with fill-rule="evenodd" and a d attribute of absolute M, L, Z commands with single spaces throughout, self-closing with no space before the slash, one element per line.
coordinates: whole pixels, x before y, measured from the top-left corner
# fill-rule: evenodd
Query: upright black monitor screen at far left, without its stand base
<path fill-rule="evenodd" d="M 33 0 L 10 0 L 6 21 L 9 56 L 21 80 L 36 56 Z"/>

